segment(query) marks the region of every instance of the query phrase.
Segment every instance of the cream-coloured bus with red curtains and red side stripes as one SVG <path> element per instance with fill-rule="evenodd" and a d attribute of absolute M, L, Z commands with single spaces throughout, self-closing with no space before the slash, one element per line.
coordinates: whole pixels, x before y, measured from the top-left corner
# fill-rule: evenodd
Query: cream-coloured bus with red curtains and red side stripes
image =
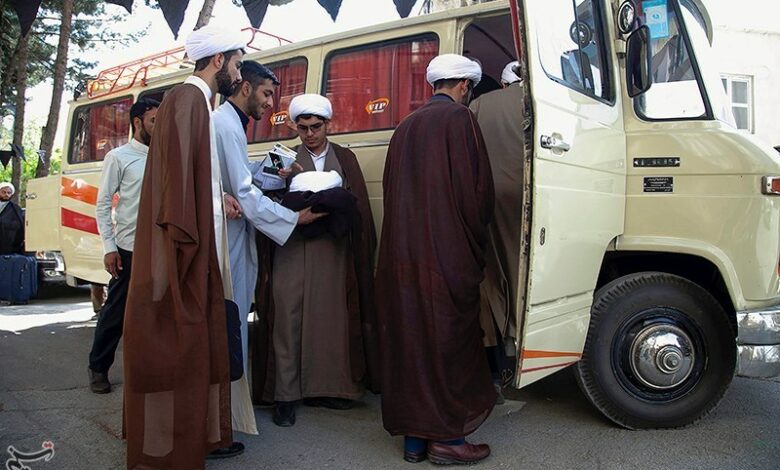
<path fill-rule="evenodd" d="M 656 428 L 706 415 L 735 373 L 779 375 L 780 159 L 729 124 L 701 1 L 515 1 L 253 52 L 282 84 L 249 126 L 251 156 L 297 143 L 283 125 L 293 96 L 327 95 L 331 139 L 357 154 L 381 227 L 387 144 L 431 95 L 428 61 L 469 55 L 487 83 L 520 58 L 530 98 L 516 106 L 532 125 L 515 156 L 527 176 L 514 385 L 575 365 L 605 416 Z M 27 247 L 61 252 L 71 280 L 108 280 L 101 160 L 127 142 L 133 100 L 191 73 L 152 77 L 167 60 L 128 64 L 124 84 L 114 70 L 75 100 L 62 175 L 29 184 Z"/>

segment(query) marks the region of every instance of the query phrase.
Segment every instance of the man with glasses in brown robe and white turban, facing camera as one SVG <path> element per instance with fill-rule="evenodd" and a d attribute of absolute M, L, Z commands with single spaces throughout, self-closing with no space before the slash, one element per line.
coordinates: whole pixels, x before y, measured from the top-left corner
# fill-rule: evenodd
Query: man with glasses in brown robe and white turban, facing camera
<path fill-rule="evenodd" d="M 331 172 L 356 203 L 350 229 L 313 237 L 303 233 L 308 229 L 296 229 L 284 246 L 275 247 L 270 273 L 260 275 L 271 285 L 269 305 L 262 309 L 271 325 L 271 349 L 255 381 L 263 380 L 264 398 L 276 401 L 273 421 L 278 426 L 295 424 L 301 399 L 308 406 L 351 408 L 363 394 L 367 369 L 378 361 L 372 339 L 374 221 L 355 154 L 327 139 L 331 115 L 330 101 L 320 95 L 297 96 L 290 103 L 290 118 L 303 143 L 296 162 L 304 170 L 293 172 L 291 191 L 295 178 Z"/>

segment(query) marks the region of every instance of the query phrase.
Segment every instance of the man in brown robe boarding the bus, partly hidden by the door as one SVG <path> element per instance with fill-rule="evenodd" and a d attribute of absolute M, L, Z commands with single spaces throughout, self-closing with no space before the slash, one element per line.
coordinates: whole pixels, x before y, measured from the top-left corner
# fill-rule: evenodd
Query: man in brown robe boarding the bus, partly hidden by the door
<path fill-rule="evenodd" d="M 516 305 L 521 277 L 520 243 L 523 228 L 523 173 L 525 166 L 525 84 L 515 73 L 517 61 L 501 73 L 499 90 L 472 101 L 490 156 L 495 187 L 493 222 L 488 227 L 485 280 L 482 282 L 480 322 L 485 331 L 493 382 L 500 390 L 512 376 L 509 356 L 517 338 Z"/>

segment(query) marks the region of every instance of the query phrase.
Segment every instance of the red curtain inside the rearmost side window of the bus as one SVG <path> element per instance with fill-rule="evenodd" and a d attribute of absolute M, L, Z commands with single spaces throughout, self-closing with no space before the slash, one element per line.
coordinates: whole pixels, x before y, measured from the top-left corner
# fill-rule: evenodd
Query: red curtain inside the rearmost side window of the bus
<path fill-rule="evenodd" d="M 127 98 L 89 110 L 89 161 L 102 161 L 111 149 L 127 143 L 132 104 Z"/>

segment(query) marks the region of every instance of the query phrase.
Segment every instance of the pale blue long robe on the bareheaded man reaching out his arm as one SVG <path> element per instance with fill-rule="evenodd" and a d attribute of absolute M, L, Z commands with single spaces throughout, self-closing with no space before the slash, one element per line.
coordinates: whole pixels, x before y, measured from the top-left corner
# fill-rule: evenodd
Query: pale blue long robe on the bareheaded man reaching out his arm
<path fill-rule="evenodd" d="M 246 130 L 234 105 L 225 102 L 217 108 L 214 112 L 214 129 L 222 189 L 236 198 L 241 206 L 241 217 L 227 221 L 233 299 L 241 315 L 241 341 L 244 353 L 244 376 L 231 384 L 233 429 L 257 434 L 247 373 L 249 370 L 247 321 L 255 295 L 259 269 L 255 229 L 282 245 L 295 228 L 298 215 L 264 196 L 263 192 L 252 184 L 252 175 L 259 169 L 260 163 L 249 161 Z"/>

